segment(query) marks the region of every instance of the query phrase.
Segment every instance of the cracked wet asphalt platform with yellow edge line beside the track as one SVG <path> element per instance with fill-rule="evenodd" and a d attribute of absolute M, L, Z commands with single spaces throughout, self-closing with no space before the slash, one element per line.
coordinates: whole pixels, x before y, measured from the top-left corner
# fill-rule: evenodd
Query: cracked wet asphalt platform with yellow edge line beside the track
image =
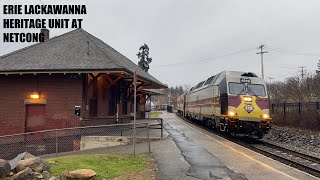
<path fill-rule="evenodd" d="M 168 138 L 152 143 L 158 179 L 317 179 L 164 112 Z"/>

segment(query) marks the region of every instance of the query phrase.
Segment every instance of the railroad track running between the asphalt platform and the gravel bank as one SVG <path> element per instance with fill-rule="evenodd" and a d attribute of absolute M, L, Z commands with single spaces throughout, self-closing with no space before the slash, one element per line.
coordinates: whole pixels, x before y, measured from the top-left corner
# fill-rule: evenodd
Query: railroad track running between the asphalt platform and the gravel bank
<path fill-rule="evenodd" d="M 185 119 L 179 115 L 179 118 L 184 119 L 185 121 L 202 128 L 210 133 L 223 137 L 229 141 L 237 143 L 241 146 L 244 146 L 248 149 L 251 149 L 255 152 L 268 156 L 274 160 L 287 164 L 291 167 L 297 168 L 301 171 L 312 174 L 316 177 L 320 177 L 320 158 L 310 156 L 304 153 L 293 151 L 275 144 L 271 144 L 262 140 L 248 140 L 248 139 L 239 139 L 232 136 L 227 136 L 221 133 L 218 133 L 212 129 L 203 127 L 193 121 Z"/>

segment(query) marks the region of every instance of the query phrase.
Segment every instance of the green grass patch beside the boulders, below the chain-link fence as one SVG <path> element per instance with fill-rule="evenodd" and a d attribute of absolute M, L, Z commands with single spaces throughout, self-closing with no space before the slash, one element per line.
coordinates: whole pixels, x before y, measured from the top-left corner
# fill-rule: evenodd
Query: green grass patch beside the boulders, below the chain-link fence
<path fill-rule="evenodd" d="M 50 172 L 56 176 L 65 170 L 92 169 L 96 179 L 114 179 L 125 173 L 142 171 L 148 165 L 148 156 L 144 154 L 81 154 L 46 159 L 54 163 Z"/>

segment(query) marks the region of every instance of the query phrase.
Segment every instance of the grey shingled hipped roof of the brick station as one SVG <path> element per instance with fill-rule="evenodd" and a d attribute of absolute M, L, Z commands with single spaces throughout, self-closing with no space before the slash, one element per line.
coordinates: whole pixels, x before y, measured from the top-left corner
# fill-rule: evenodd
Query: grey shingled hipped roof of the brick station
<path fill-rule="evenodd" d="M 0 74 L 137 72 L 152 87 L 162 84 L 130 59 L 83 29 L 50 38 L 0 57 Z"/>

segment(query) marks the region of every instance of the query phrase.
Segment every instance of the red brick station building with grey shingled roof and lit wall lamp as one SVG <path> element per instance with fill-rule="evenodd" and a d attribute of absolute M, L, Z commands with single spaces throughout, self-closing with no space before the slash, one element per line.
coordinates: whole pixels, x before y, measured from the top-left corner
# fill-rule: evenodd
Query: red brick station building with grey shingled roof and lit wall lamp
<path fill-rule="evenodd" d="M 83 29 L 0 57 L 0 135 L 124 123 L 166 86 Z M 116 119 L 116 114 L 119 117 Z M 119 122 L 121 119 L 121 122 Z"/>

